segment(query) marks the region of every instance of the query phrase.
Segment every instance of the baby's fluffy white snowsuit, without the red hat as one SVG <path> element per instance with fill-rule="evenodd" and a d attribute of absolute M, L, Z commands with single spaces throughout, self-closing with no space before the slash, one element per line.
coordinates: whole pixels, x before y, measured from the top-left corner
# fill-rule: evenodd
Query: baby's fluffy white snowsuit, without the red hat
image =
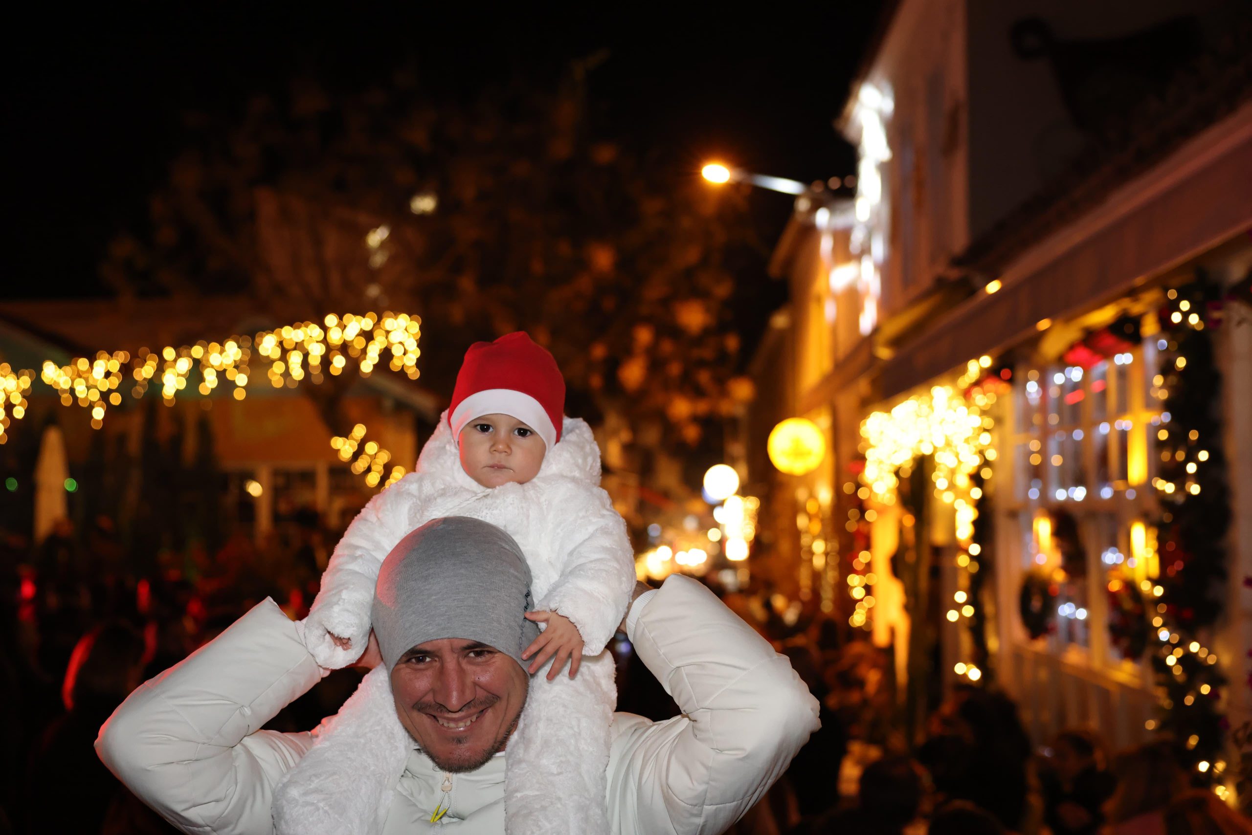
<path fill-rule="evenodd" d="M 317 662 L 342 667 L 364 651 L 379 567 L 407 533 L 433 518 L 471 516 L 513 536 L 531 567 L 536 608 L 573 621 L 585 657 L 573 680 L 562 674 L 547 681 L 546 667 L 531 679 L 508 741 L 508 835 L 608 832 L 605 774 L 617 692 L 613 660 L 603 650 L 626 611 L 635 566 L 626 525 L 598 484 L 600 449 L 581 419 L 565 418 L 538 476 L 490 489 L 462 469 L 444 416 L 417 472 L 372 498 L 348 527 L 303 622 Z M 351 638 L 352 647 L 341 650 L 331 633 Z M 316 735 L 275 789 L 278 832 L 379 832 L 416 747 L 396 715 L 389 671 L 371 671 Z"/>

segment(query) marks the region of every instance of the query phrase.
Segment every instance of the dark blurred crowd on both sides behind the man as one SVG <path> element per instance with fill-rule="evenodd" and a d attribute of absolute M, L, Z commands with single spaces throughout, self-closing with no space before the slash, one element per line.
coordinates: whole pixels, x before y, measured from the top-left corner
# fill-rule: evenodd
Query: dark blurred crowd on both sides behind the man
<path fill-rule="evenodd" d="M 264 542 L 240 525 L 214 553 L 160 553 L 133 570 L 108 518 L 69 523 L 38 547 L 0 531 L 0 835 L 173 831 L 93 749 L 104 720 L 148 677 L 273 597 L 303 617 L 338 531 L 285 516 Z M 262 556 L 263 555 L 263 556 Z M 958 687 L 925 727 L 905 730 L 886 655 L 831 620 L 799 623 L 769 587 L 714 590 L 785 653 L 821 705 L 821 730 L 736 835 L 1249 835 L 1208 791 L 1191 789 L 1166 741 L 1111 756 L 1074 729 L 1037 747 L 1017 705 Z M 677 707 L 632 652 L 613 645 L 618 709 Z M 341 670 L 269 727 L 308 730 L 363 671 Z"/>

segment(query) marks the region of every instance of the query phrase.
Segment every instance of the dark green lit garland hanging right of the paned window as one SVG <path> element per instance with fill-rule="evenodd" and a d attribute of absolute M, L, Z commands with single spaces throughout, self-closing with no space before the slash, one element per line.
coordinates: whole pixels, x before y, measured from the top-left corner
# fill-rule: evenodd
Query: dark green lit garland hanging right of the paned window
<path fill-rule="evenodd" d="M 1219 781 L 1227 767 L 1221 711 L 1226 677 L 1201 640 L 1222 611 L 1231 520 L 1218 418 L 1221 373 L 1211 337 L 1218 293 L 1203 277 L 1168 292 L 1157 343 L 1161 373 L 1153 379 L 1164 408 L 1157 434 L 1159 474 L 1153 479 L 1162 511 L 1156 522 L 1158 646 L 1152 653 L 1163 699 L 1161 719 L 1149 727 L 1182 742 L 1197 781 L 1206 784 Z"/>

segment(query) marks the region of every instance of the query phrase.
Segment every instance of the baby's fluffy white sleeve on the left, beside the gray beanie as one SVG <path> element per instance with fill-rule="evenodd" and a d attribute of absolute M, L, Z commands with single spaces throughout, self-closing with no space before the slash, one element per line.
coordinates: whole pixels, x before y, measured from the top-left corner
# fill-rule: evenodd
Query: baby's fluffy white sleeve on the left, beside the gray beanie
<path fill-rule="evenodd" d="M 304 641 L 323 667 L 346 666 L 366 651 L 378 571 L 412 530 L 411 511 L 421 503 L 422 478 L 409 473 L 371 498 L 334 547 L 304 621 Z M 339 648 L 331 635 L 349 638 L 352 646 Z"/>

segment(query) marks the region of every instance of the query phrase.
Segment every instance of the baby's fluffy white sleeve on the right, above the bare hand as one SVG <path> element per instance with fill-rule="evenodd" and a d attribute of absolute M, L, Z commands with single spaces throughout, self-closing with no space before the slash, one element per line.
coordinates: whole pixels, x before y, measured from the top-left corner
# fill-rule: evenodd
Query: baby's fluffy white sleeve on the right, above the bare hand
<path fill-rule="evenodd" d="M 578 627 L 583 652 L 600 655 L 617 631 L 635 588 L 626 521 L 598 487 L 571 486 L 557 499 L 561 576 L 540 601 Z"/>

